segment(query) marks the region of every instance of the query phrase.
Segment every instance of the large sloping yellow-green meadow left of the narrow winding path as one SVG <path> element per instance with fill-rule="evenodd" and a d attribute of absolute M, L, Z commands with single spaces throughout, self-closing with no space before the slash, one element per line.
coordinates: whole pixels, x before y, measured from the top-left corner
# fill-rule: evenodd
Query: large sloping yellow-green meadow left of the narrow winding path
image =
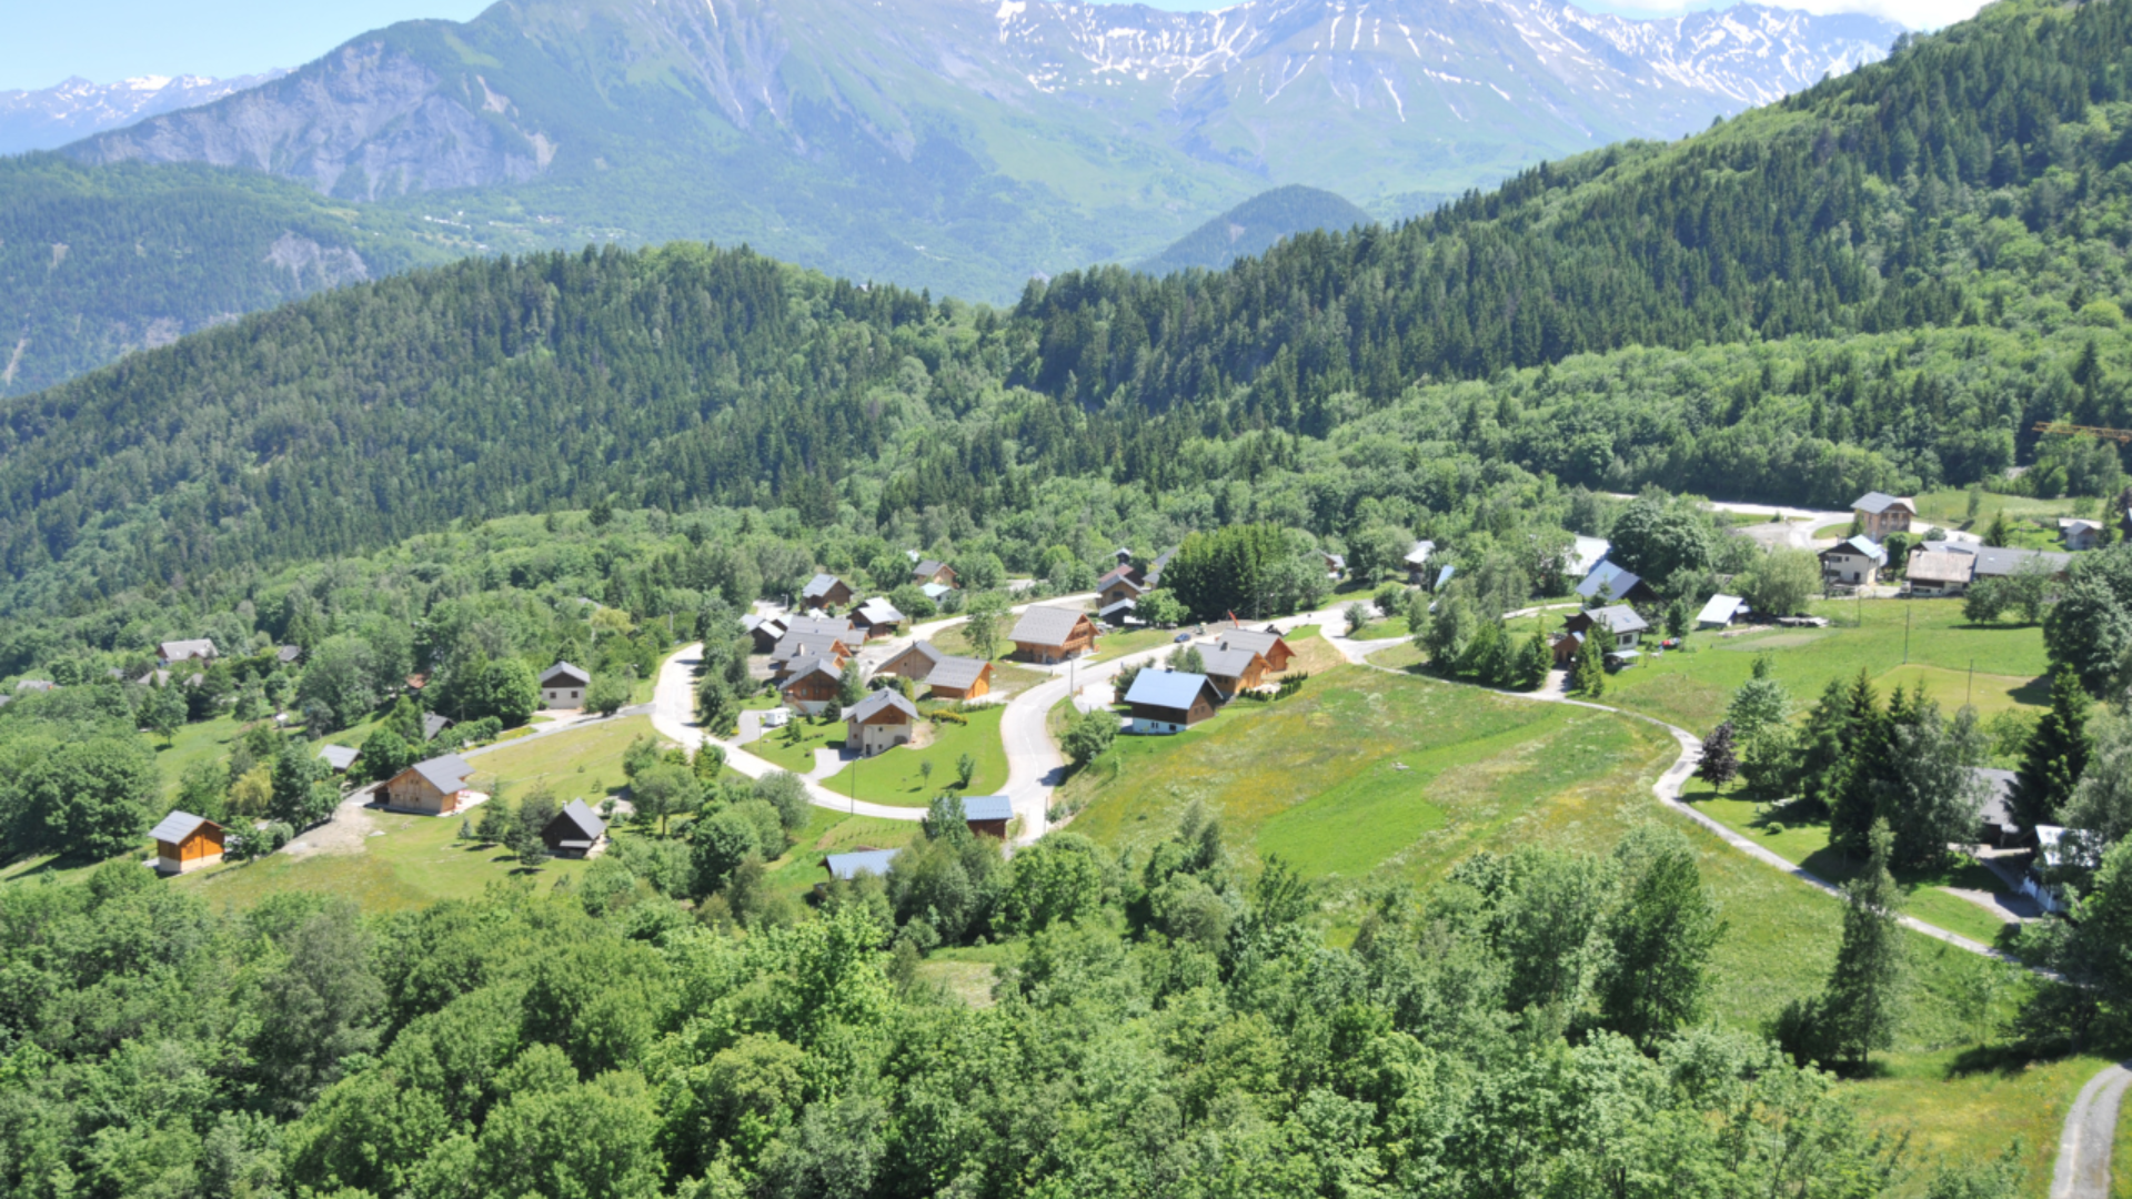
<path fill-rule="evenodd" d="M 1727 922 L 1712 956 L 1712 1016 L 1759 1030 L 1823 986 L 1842 907 L 1661 809 L 1650 783 L 1676 755 L 1644 721 L 1337 668 L 1292 700 L 1232 704 L 1185 736 L 1119 738 L 1117 764 L 1068 781 L 1060 800 L 1083 802 L 1072 828 L 1113 847 L 1164 838 L 1190 802 L 1207 804 L 1230 845 L 1294 858 L 1324 879 L 1332 941 L 1352 932 L 1362 892 L 1379 881 L 1428 885 L 1480 849 L 1599 853 L 1635 824 L 1663 819 L 1697 847 Z M 1976 1022 L 1961 996 L 1989 962 L 1923 934 L 1906 943 L 1910 1003 L 1897 1050 L 1972 1043 Z"/>

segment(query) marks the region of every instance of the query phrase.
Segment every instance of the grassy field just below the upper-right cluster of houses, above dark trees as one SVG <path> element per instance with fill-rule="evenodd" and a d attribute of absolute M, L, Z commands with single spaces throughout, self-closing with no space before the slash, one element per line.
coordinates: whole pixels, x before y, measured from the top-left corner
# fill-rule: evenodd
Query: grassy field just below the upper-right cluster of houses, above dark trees
<path fill-rule="evenodd" d="M 1861 668 L 1883 698 L 1897 681 L 1925 681 L 1927 693 L 1942 706 L 1959 706 L 1964 696 L 1972 696 L 1983 715 L 2049 700 L 2049 685 L 2040 683 L 2049 659 L 2038 627 L 1968 625 L 1959 600 L 1836 600 L 1816 604 L 1814 612 L 1840 621 L 1838 627 L 1772 627 L 1735 638 L 1691 634 L 1686 653 L 1644 657 L 1637 668 L 1610 676 L 1601 702 L 1710 732 L 1725 719 L 1725 704 L 1763 651 L 1797 704 L 1812 704 L 1831 678 L 1848 681 Z"/>

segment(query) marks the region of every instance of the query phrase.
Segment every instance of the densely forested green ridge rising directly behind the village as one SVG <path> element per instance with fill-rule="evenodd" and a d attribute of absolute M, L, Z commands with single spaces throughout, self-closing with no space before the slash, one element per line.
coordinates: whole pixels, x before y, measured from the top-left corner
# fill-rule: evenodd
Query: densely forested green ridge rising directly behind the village
<path fill-rule="evenodd" d="M 6 610 L 595 497 L 1347 533 L 1541 471 L 1989 478 L 2032 418 L 2128 420 L 2128 47 L 2123 0 L 1998 6 L 1678 145 L 1008 311 L 699 247 L 316 297 L 0 410 Z"/>

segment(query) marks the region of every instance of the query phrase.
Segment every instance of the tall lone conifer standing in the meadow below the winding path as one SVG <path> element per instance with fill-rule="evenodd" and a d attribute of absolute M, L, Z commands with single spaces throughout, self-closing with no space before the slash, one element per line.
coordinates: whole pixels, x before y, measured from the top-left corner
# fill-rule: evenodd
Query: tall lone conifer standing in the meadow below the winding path
<path fill-rule="evenodd" d="M 1866 870 L 1844 883 L 1844 941 L 1821 1005 L 1823 1043 L 1853 1067 L 1895 1043 L 1902 1013 L 1902 892 L 1887 873 L 1893 843 L 1887 821 L 1874 821 L 1866 843 Z"/>

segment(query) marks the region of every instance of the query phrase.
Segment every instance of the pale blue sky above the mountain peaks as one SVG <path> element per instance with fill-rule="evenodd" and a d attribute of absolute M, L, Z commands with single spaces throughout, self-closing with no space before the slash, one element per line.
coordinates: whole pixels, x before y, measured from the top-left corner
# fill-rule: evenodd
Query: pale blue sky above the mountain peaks
<path fill-rule="evenodd" d="M 1156 0 L 1215 9 L 1230 0 Z M 1912 28 L 1968 17 L 1976 0 L 1789 0 L 1816 13 L 1866 11 Z M 51 87 L 68 75 L 115 83 L 134 75 L 252 75 L 298 66 L 392 21 L 463 21 L 486 0 L 9 0 L 0 90 Z M 1659 15 L 1710 0 L 1584 0 L 1586 9 Z"/>

